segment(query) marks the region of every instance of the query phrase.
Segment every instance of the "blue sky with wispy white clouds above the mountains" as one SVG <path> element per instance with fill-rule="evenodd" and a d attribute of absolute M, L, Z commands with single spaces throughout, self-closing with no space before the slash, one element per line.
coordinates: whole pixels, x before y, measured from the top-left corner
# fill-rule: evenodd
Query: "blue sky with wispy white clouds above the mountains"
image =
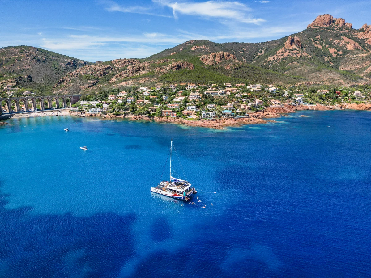
<path fill-rule="evenodd" d="M 357 29 L 371 24 L 371 0 L 0 0 L 0 4 L 0 47 L 30 45 L 92 62 L 147 57 L 191 39 L 264 42 L 299 32 L 325 13 L 342 17 Z"/>

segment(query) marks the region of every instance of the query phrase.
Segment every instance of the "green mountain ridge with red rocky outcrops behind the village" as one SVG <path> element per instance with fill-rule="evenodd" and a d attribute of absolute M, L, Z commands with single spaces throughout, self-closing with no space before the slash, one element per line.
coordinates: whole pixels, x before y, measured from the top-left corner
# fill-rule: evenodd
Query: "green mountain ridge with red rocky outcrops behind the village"
<path fill-rule="evenodd" d="M 371 84 L 371 25 L 353 29 L 323 14 L 307 29 L 272 41 L 189 40 L 144 59 L 96 63 L 36 47 L 3 47 L 0 69 L 0 86 L 11 76 L 17 86 L 59 94 L 170 82 Z"/>

